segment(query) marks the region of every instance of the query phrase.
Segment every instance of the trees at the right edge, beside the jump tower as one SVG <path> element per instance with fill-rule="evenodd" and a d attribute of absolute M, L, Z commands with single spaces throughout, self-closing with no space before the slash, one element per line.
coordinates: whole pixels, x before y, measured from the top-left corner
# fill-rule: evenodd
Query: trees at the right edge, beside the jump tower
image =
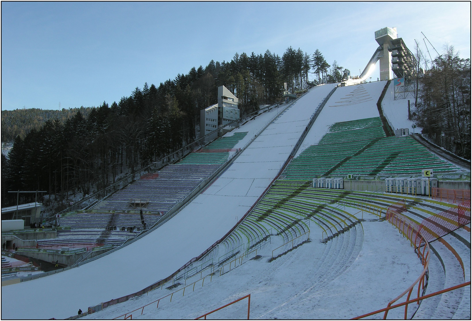
<path fill-rule="evenodd" d="M 454 48 L 420 77 L 417 124 L 437 145 L 471 159 L 471 61 Z"/>

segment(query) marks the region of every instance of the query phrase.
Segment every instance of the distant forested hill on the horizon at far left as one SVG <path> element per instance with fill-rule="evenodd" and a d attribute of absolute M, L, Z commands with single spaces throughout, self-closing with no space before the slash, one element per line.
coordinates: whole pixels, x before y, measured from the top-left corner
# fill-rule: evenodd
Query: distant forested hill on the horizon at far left
<path fill-rule="evenodd" d="M 67 119 L 76 115 L 80 110 L 85 117 L 90 113 L 91 107 L 62 108 L 62 110 L 23 108 L 1 111 L 1 141 L 13 141 L 18 135 L 21 139 L 32 129 L 39 130 L 48 120 L 59 119 L 64 123 Z"/>

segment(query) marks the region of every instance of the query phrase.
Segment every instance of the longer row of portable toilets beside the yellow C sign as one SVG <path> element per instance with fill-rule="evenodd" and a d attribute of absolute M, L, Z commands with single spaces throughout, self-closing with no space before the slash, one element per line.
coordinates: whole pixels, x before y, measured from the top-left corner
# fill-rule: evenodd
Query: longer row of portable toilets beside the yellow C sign
<path fill-rule="evenodd" d="M 385 179 L 385 191 L 412 195 L 430 195 L 430 190 L 438 187 L 438 179 L 427 177 L 395 177 Z"/>

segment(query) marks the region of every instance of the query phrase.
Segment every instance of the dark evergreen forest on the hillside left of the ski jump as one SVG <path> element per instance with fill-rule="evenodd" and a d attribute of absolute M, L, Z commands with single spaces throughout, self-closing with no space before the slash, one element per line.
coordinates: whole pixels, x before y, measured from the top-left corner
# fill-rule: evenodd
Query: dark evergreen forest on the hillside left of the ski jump
<path fill-rule="evenodd" d="M 16 204 L 7 190 L 47 190 L 58 201 L 71 193 L 91 194 L 182 148 L 195 140 L 200 110 L 217 103 L 221 85 L 239 98 L 245 115 L 282 99 L 284 82 L 295 92 L 342 80 L 342 67 L 336 61 L 328 72 L 330 67 L 319 50 L 312 58 L 292 47 L 282 57 L 269 50 L 236 53 L 229 62 L 211 60 L 158 87 L 144 83 L 118 103 L 104 101 L 86 115 L 80 109 L 67 119 L 48 119 L 24 137 L 17 135 L 8 159 L 2 156 L 2 204 Z M 318 76 L 314 82 L 308 80 L 310 70 Z M 32 201 L 31 195 L 20 196 Z"/>

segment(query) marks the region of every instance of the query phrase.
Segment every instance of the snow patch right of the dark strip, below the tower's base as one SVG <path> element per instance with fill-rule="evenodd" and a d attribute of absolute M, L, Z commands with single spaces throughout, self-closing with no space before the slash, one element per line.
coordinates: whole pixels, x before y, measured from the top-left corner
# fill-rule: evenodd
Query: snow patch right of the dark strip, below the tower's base
<path fill-rule="evenodd" d="M 385 85 L 385 82 L 384 82 Z M 393 130 L 398 128 L 408 128 L 410 133 L 413 133 L 413 121 L 408 120 L 408 100 L 410 100 L 410 111 L 416 111 L 414 107 L 414 99 L 398 99 L 395 100 L 393 81 L 390 82 L 387 91 L 385 92 L 384 99 L 382 100 L 382 109 L 384 116 L 387 118 L 388 123 L 392 126 Z M 421 133 L 422 128 L 417 127 L 414 132 Z"/>

